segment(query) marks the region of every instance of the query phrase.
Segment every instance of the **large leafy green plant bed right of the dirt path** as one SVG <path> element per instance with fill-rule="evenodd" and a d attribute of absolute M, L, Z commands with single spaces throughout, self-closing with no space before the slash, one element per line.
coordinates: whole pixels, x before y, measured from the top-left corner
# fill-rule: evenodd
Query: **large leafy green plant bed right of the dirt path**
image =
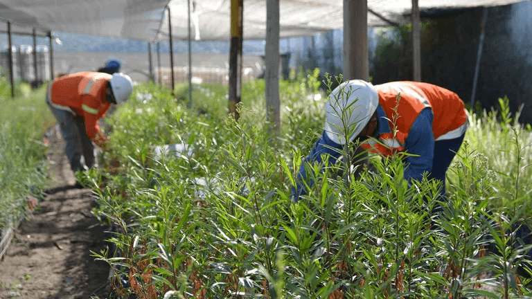
<path fill-rule="evenodd" d="M 316 82 L 281 82 L 279 132 L 261 80 L 242 86 L 238 122 L 220 86 L 195 86 L 191 109 L 186 87 L 136 86 L 107 118 L 102 169 L 84 175 L 94 214 L 115 227 L 114 246 L 94 253 L 113 266 L 115 296 L 529 296 L 530 127 L 508 100 L 470 111 L 441 214 L 431 212 L 440 186 L 409 187 L 399 157 L 371 157 L 360 178 L 344 171 L 354 161 L 315 165 L 316 183 L 295 202 L 301 158 L 323 125 Z"/>

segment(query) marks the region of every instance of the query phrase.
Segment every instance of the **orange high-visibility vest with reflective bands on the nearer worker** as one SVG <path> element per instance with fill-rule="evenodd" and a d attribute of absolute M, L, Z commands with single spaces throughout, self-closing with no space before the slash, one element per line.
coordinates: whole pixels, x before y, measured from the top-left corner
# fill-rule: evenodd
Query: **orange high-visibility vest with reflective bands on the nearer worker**
<path fill-rule="evenodd" d="M 467 128 L 468 116 L 462 100 L 456 93 L 443 87 L 401 81 L 376 85 L 375 89 L 379 94 L 379 105 L 388 118 L 391 133 L 380 134 L 379 141 L 382 144 L 373 139 L 362 143 L 364 149 L 371 149 L 384 156 L 404 152 L 411 126 L 425 108 L 432 109 L 434 115 L 432 132 L 435 141 L 458 138 Z"/>

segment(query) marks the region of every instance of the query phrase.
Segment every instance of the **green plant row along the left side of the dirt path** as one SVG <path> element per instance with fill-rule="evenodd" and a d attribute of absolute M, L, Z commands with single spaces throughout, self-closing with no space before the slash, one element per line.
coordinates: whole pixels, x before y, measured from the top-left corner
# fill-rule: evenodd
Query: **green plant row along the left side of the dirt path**
<path fill-rule="evenodd" d="M 25 96 L 0 100 L 0 257 L 49 183 L 44 133 L 53 117 L 46 114 L 42 89 L 30 93 L 18 84 L 28 89 Z"/>

